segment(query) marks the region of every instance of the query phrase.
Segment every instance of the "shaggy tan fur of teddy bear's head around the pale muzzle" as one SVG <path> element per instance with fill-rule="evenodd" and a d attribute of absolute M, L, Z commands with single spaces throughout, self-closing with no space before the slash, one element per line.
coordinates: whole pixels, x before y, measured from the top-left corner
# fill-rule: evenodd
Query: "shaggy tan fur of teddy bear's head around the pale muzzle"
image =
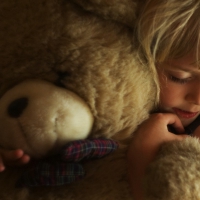
<path fill-rule="evenodd" d="M 133 29 L 123 23 L 134 23 L 135 9 L 134 1 L 2 1 L 0 94 L 26 78 L 54 82 L 62 72 L 65 87 L 89 105 L 95 136 L 129 135 L 155 99 Z"/>

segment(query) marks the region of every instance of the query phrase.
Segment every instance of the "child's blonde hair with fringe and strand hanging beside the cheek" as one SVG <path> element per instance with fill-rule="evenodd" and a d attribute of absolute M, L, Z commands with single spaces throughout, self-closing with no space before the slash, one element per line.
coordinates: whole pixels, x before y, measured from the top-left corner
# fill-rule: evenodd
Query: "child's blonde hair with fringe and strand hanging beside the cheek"
<path fill-rule="evenodd" d="M 136 34 L 140 54 L 153 72 L 159 94 L 156 62 L 178 58 L 192 50 L 199 61 L 200 0 L 145 0 Z"/>

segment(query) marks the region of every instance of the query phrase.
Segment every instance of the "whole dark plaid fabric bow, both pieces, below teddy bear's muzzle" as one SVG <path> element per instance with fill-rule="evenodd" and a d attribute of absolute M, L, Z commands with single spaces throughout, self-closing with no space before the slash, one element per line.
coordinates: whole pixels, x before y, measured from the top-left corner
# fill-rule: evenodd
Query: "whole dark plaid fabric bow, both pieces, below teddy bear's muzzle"
<path fill-rule="evenodd" d="M 58 186 L 74 182 L 85 175 L 80 161 L 101 158 L 113 152 L 117 147 L 116 142 L 108 139 L 71 142 L 56 156 L 29 166 L 22 173 L 16 186 Z"/>

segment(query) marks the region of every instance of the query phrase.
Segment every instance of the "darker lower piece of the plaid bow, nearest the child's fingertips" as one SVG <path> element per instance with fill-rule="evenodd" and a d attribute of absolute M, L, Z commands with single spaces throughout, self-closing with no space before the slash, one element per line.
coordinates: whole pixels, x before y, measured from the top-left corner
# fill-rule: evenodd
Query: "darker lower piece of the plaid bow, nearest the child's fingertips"
<path fill-rule="evenodd" d="M 26 170 L 17 181 L 16 187 L 59 186 L 74 182 L 84 175 L 85 171 L 78 163 L 41 162 Z"/>

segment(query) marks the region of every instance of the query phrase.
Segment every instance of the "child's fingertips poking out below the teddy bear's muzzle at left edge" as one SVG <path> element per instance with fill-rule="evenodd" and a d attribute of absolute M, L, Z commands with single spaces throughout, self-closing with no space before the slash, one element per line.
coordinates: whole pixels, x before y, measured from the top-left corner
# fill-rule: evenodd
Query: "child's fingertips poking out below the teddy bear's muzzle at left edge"
<path fill-rule="evenodd" d="M 25 154 L 21 149 L 5 150 L 0 149 L 0 172 L 5 170 L 6 165 L 19 166 L 28 163 L 30 156 Z"/>

